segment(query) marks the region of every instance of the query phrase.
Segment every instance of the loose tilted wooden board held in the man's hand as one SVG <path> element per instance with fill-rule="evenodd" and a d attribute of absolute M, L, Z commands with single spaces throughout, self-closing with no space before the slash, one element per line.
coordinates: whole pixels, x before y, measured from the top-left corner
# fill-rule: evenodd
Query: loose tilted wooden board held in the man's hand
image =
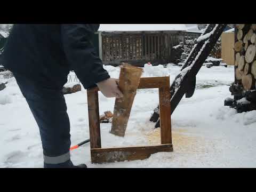
<path fill-rule="evenodd" d="M 116 99 L 110 133 L 124 137 L 141 74 L 141 68 L 127 64 L 121 67 L 119 88 L 123 92 L 124 97 Z"/>

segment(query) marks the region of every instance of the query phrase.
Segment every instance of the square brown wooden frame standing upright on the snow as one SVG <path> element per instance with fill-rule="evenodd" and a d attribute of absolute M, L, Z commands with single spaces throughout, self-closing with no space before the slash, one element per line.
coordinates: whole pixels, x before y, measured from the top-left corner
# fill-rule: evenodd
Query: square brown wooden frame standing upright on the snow
<path fill-rule="evenodd" d="M 171 132 L 170 77 L 141 78 L 138 89 L 159 89 L 159 114 L 161 119 L 161 144 L 156 146 L 101 148 L 98 87 L 87 90 L 91 161 L 106 163 L 146 159 L 151 154 L 173 151 Z"/>

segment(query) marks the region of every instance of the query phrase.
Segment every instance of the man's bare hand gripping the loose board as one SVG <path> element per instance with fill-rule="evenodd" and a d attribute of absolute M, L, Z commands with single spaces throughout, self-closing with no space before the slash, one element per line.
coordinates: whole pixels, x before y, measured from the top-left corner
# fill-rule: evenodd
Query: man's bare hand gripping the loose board
<path fill-rule="evenodd" d="M 107 98 L 122 98 L 123 93 L 119 90 L 118 79 L 108 78 L 105 81 L 97 83 L 101 93 Z"/>

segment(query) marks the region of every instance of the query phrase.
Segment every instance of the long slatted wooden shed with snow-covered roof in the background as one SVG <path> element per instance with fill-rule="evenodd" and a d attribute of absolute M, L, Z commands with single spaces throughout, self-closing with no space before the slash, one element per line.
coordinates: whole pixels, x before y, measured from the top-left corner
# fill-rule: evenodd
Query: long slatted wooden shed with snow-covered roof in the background
<path fill-rule="evenodd" d="M 105 65 L 129 62 L 143 66 L 167 63 L 172 47 L 201 33 L 187 31 L 184 24 L 101 24 L 99 55 Z"/>

